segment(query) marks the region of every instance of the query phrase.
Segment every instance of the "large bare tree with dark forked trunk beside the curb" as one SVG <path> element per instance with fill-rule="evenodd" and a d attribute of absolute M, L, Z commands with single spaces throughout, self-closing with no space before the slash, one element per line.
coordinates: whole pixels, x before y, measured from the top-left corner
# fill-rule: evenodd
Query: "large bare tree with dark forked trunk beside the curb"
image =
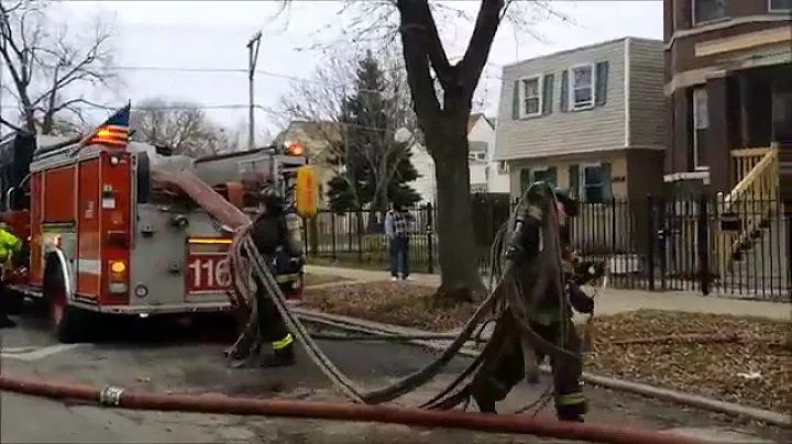
<path fill-rule="evenodd" d="M 468 120 L 476 87 L 502 22 L 508 20 L 515 29 L 530 33 L 538 22 L 568 19 L 549 0 L 480 0 L 475 14 L 430 0 L 349 1 L 343 9 L 345 41 L 381 45 L 400 37 L 413 108 L 436 164 L 438 296 L 480 299 L 484 285 L 477 270 L 468 165 Z M 473 29 L 466 48 L 461 57 L 450 57 L 441 25 L 468 20 Z"/>

